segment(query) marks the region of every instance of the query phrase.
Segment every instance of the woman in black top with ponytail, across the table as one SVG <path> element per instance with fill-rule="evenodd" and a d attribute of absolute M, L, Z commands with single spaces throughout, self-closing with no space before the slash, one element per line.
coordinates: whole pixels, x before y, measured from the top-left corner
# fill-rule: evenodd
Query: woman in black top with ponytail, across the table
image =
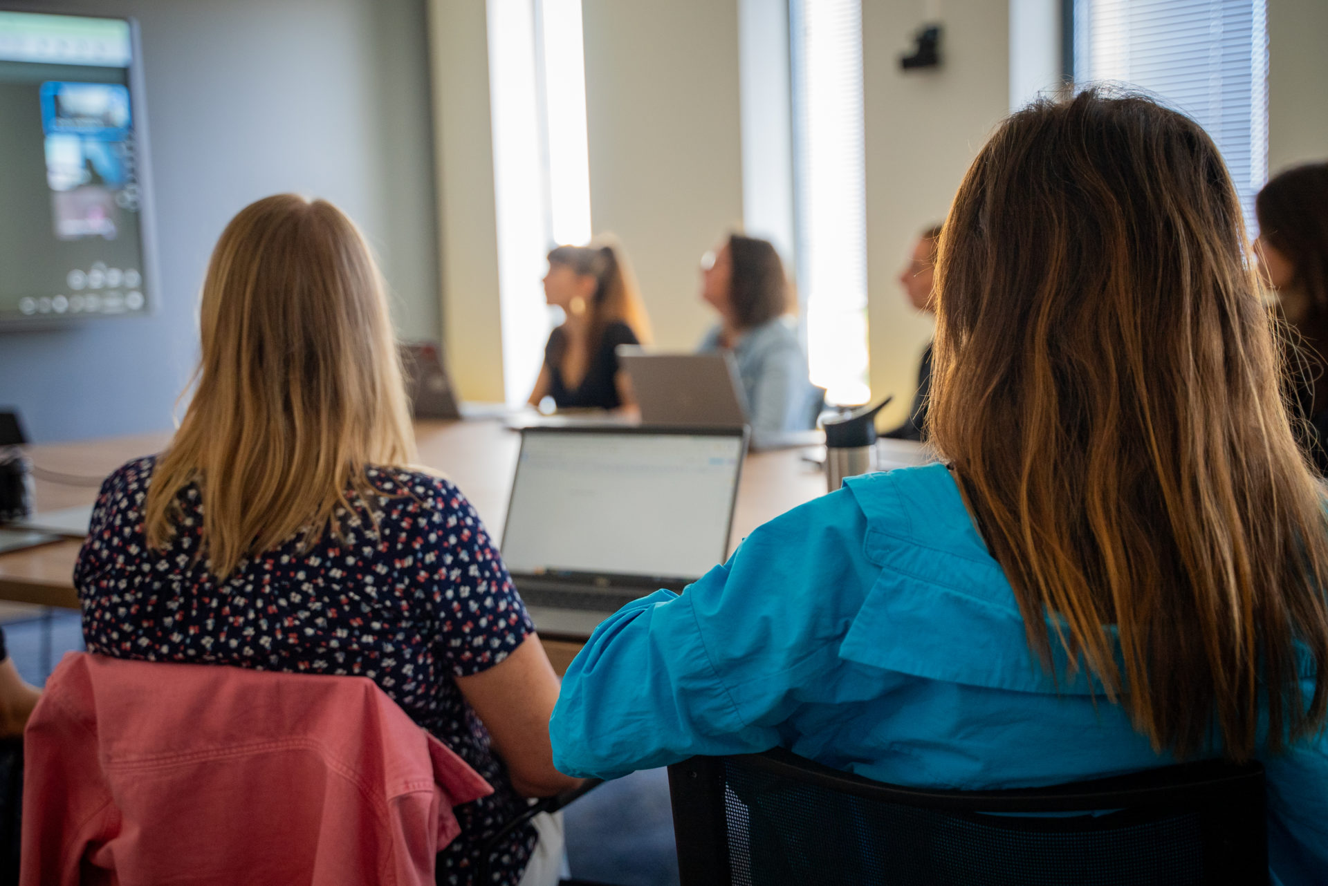
<path fill-rule="evenodd" d="M 645 308 L 622 247 L 558 247 L 548 253 L 544 298 L 566 320 L 548 336 L 530 405 L 614 410 L 635 403 L 618 367 L 619 345 L 649 340 Z"/>

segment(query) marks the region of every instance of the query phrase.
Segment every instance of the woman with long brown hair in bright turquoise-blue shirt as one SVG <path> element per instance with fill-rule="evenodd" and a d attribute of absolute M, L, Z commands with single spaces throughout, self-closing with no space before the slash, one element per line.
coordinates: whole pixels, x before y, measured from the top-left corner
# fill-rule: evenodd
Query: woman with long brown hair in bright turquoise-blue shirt
<path fill-rule="evenodd" d="M 950 464 L 851 477 L 606 621 L 554 763 L 785 745 L 1012 788 L 1258 757 L 1272 871 L 1324 882 L 1328 517 L 1248 257 L 1194 121 L 1098 92 L 1011 117 L 940 237 Z"/>

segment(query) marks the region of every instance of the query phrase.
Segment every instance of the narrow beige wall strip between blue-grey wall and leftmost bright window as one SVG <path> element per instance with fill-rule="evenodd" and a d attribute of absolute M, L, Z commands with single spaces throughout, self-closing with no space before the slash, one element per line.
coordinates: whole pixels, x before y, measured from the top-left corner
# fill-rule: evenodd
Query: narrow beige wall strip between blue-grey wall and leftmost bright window
<path fill-rule="evenodd" d="M 501 402 L 486 28 L 483 0 L 429 0 L 444 351 L 462 398 Z"/>

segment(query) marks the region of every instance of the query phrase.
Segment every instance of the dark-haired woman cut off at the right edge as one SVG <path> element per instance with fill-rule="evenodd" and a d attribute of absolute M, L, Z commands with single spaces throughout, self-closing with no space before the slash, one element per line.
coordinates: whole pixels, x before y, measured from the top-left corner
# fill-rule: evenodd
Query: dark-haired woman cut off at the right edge
<path fill-rule="evenodd" d="M 1296 330 L 1289 383 L 1301 446 L 1328 474 L 1328 163 L 1274 176 L 1255 199 L 1256 253 L 1278 290 L 1282 316 Z"/>

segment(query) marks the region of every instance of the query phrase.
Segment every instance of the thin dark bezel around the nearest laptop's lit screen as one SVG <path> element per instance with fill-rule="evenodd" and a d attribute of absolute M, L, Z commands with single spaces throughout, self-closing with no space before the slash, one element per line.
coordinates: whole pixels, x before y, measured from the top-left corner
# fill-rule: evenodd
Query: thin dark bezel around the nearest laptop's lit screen
<path fill-rule="evenodd" d="M 598 424 L 587 422 L 586 424 L 568 424 L 563 427 L 542 427 L 533 426 L 522 428 L 521 431 L 521 448 L 517 452 L 517 467 L 511 474 L 511 489 L 507 493 L 507 512 L 503 515 L 502 524 L 502 541 L 498 544 L 498 552 L 502 554 L 503 548 L 507 544 L 507 527 L 511 524 L 511 505 L 517 497 L 517 476 L 521 474 L 521 455 L 526 451 L 527 435 L 547 435 L 547 434 L 610 434 L 622 436 L 720 436 L 720 438 L 741 438 L 738 444 L 738 467 L 733 477 L 733 495 L 729 497 L 729 515 L 724 524 L 724 556 L 720 562 L 724 562 L 732 556 L 732 541 L 733 541 L 733 515 L 737 511 L 738 504 L 738 491 L 742 487 L 742 468 L 746 464 L 748 444 L 750 442 L 750 434 L 746 426 L 742 427 L 680 427 L 680 426 L 660 426 L 660 424 Z M 503 560 L 506 565 L 506 560 Z M 631 588 L 631 586 L 653 586 L 663 588 L 665 585 L 680 585 L 689 584 L 700 578 L 700 576 L 652 576 L 644 573 L 607 573 L 607 572 L 572 572 L 572 570 L 552 570 L 552 572 L 509 572 L 513 578 L 538 578 L 539 581 L 558 581 L 576 585 L 603 585 L 606 588 Z"/>

